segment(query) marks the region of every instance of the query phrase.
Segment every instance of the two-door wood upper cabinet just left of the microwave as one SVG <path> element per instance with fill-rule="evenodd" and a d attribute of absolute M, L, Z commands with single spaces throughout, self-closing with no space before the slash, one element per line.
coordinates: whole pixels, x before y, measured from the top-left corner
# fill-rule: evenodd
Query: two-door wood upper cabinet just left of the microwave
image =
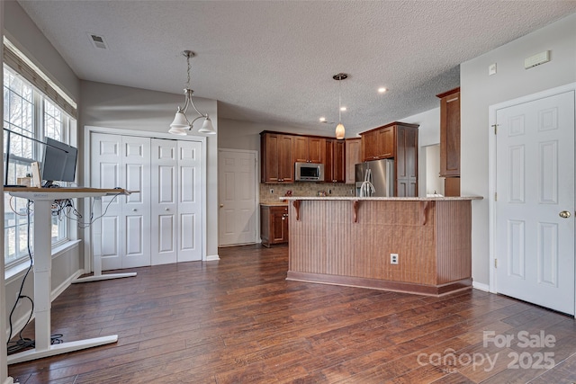
<path fill-rule="evenodd" d="M 293 146 L 292 135 L 260 134 L 261 183 L 294 183 Z"/>

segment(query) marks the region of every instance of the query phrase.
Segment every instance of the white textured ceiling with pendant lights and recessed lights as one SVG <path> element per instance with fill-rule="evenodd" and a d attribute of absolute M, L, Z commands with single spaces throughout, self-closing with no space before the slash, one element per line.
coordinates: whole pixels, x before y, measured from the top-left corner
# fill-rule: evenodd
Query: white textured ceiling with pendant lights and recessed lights
<path fill-rule="evenodd" d="M 575 1 L 19 3 L 81 79 L 180 94 L 193 50 L 194 94 L 229 119 L 329 135 L 319 118 L 338 121 L 332 76 L 346 72 L 347 137 L 436 108 L 460 63 L 576 12 Z"/>

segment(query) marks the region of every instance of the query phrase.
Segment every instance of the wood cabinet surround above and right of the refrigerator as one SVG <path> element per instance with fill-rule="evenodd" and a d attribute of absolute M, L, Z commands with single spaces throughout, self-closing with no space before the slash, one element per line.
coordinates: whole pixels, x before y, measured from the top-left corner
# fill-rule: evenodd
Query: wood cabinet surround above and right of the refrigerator
<path fill-rule="evenodd" d="M 394 159 L 394 196 L 418 196 L 418 124 L 394 121 L 361 133 L 364 161 Z"/>

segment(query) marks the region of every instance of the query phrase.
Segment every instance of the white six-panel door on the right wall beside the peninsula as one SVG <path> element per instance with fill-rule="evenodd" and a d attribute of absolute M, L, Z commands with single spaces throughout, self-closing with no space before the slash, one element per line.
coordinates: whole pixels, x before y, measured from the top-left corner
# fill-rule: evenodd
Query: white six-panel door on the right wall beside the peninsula
<path fill-rule="evenodd" d="M 496 118 L 497 290 L 573 315 L 574 92 Z"/>

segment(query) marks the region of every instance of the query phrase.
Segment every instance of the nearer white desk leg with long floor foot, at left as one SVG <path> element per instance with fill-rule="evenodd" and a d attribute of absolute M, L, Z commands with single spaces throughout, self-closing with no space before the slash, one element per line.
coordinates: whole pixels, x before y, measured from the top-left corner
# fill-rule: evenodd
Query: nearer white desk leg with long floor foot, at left
<path fill-rule="evenodd" d="M 118 341 L 118 335 L 50 345 L 52 201 L 34 201 L 34 317 L 35 348 L 7 356 L 8 364 L 27 362 Z"/>

